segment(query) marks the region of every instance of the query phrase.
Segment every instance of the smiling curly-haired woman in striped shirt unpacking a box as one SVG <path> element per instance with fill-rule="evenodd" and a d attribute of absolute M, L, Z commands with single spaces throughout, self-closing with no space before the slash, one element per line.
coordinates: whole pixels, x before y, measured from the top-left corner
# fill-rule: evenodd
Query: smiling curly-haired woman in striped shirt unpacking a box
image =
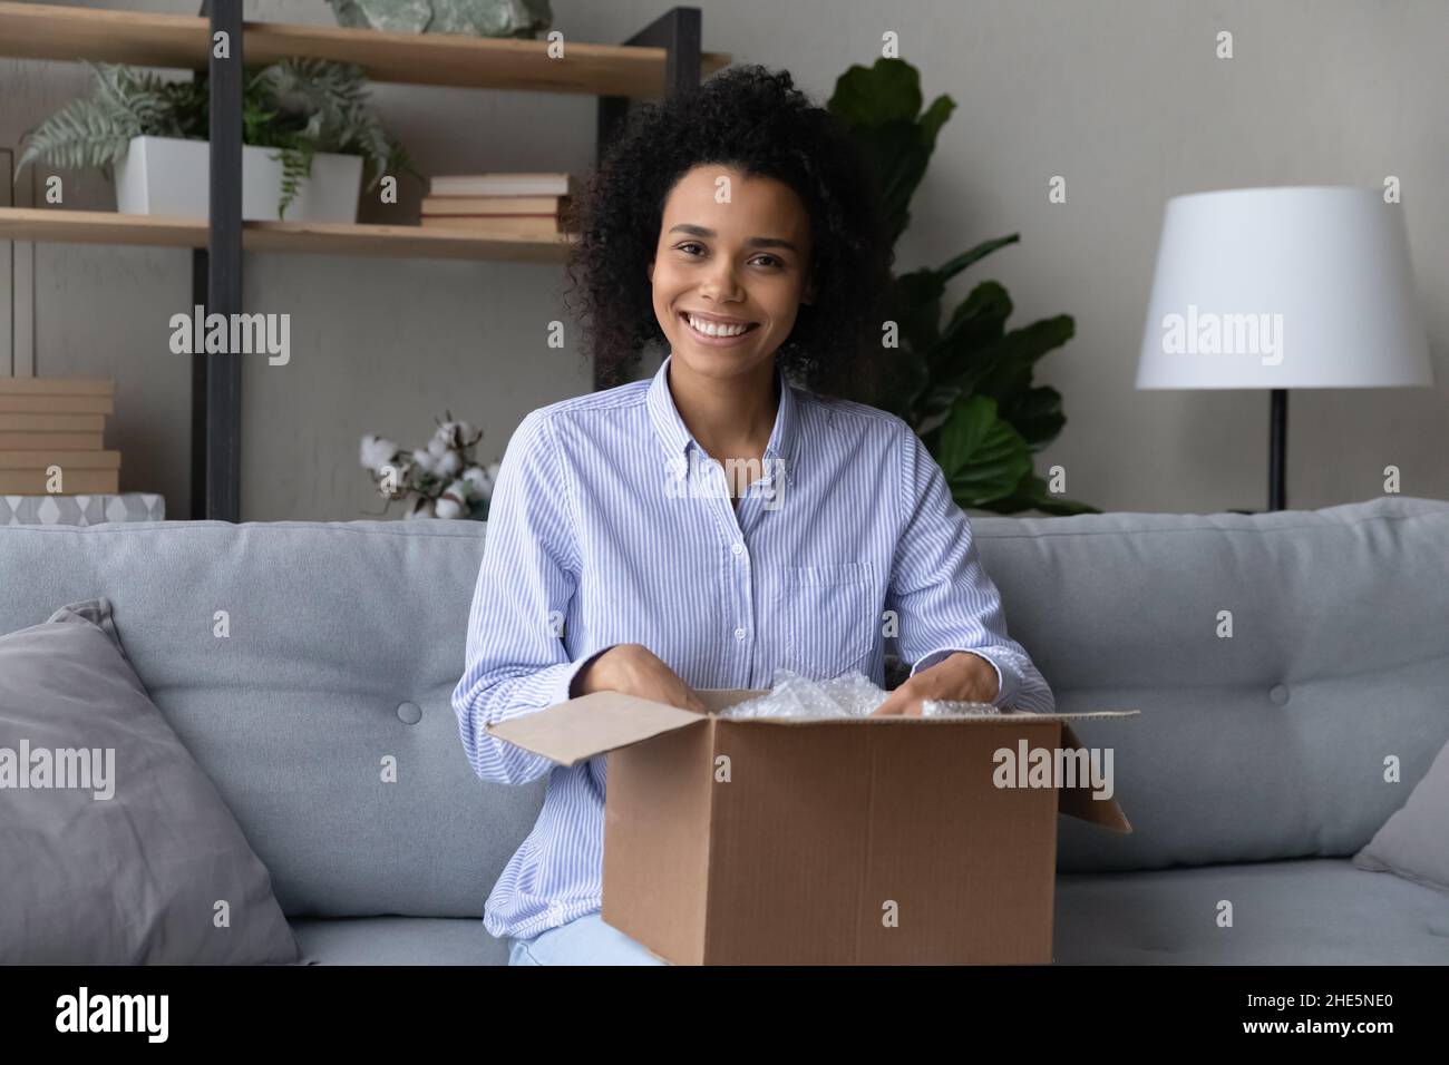
<path fill-rule="evenodd" d="M 514 964 L 648 964 L 600 920 L 606 758 L 555 767 L 490 724 L 600 690 L 704 713 L 696 688 L 767 688 L 777 668 L 882 687 L 887 632 L 911 677 L 877 713 L 1053 698 L 924 445 L 829 394 L 882 362 L 890 265 L 835 117 L 788 74 L 727 71 L 640 109 L 577 213 L 588 352 L 606 371 L 668 352 L 513 435 L 452 704 L 481 778 L 549 777 L 488 932 Z"/>

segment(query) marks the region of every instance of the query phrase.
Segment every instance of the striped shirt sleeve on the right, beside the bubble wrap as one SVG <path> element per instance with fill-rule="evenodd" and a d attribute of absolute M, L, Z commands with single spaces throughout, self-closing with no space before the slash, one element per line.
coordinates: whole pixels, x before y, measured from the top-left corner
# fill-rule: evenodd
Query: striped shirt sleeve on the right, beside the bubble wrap
<path fill-rule="evenodd" d="M 914 430 L 901 426 L 903 532 L 891 562 L 887 609 L 900 619 L 900 655 L 911 675 L 965 651 L 997 671 L 1001 709 L 1052 713 L 1056 698 L 1026 649 L 1010 638 L 1001 594 L 977 552 L 966 513 Z"/>

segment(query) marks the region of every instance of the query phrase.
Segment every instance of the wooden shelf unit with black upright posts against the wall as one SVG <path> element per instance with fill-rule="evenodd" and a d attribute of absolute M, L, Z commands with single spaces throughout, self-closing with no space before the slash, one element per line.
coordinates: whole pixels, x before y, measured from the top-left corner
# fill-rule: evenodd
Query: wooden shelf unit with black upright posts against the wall
<path fill-rule="evenodd" d="M 212 54 L 217 32 L 233 41 L 227 59 Z M 209 219 L 0 209 L 0 239 L 190 248 L 187 303 L 220 314 L 242 312 L 243 249 L 562 262 L 572 239 L 564 235 L 484 239 L 422 226 L 243 223 L 241 201 L 241 64 L 313 57 L 356 64 L 374 81 L 591 94 L 597 97 L 598 158 L 632 101 L 684 91 L 730 64 L 729 55 L 700 49 L 697 7 L 671 7 L 623 45 L 565 39 L 559 59 L 548 48 L 548 41 L 248 23 L 242 0 L 203 0 L 200 16 L 0 0 L 0 57 L 209 70 L 212 75 Z M 191 356 L 193 519 L 241 520 L 241 367 L 236 354 Z"/>

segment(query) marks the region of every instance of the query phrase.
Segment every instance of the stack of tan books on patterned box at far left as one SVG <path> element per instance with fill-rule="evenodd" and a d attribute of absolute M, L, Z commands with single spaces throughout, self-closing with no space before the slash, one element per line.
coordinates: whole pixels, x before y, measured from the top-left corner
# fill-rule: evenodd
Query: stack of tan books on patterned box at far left
<path fill-rule="evenodd" d="M 0 496 L 120 491 L 120 452 L 101 445 L 114 396 L 100 378 L 0 377 Z"/>

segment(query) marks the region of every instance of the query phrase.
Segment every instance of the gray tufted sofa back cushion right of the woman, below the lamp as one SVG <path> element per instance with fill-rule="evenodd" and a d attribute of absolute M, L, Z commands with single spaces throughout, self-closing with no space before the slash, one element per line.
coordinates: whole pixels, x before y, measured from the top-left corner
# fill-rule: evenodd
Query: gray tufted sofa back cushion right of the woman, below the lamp
<path fill-rule="evenodd" d="M 972 525 L 1058 710 L 1142 710 L 1077 729 L 1135 830 L 1064 817 L 1064 872 L 1348 858 L 1449 742 L 1449 503 Z"/>

